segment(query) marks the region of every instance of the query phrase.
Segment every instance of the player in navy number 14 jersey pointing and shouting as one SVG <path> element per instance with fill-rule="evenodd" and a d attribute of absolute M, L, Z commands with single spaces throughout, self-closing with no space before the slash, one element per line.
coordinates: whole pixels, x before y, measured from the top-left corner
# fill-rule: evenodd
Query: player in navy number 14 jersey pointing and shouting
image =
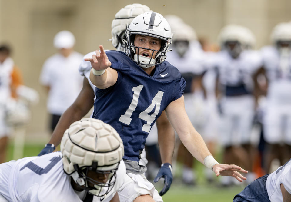
<path fill-rule="evenodd" d="M 126 54 L 107 51 L 102 45 L 90 61 L 90 80 L 96 85 L 93 117 L 110 124 L 122 138 L 128 180 L 119 190 L 124 201 L 162 201 L 139 166 L 141 151 L 150 128 L 165 110 L 182 143 L 216 176 L 246 180 L 236 165 L 219 164 L 211 155 L 201 135 L 192 126 L 185 108 L 185 80 L 169 64 L 166 51 L 172 32 L 165 18 L 155 12 L 138 15 L 126 32 Z M 124 189 L 126 187 L 126 189 Z M 126 190 L 126 191 L 123 191 Z M 154 190 L 154 191 L 153 191 Z"/>

